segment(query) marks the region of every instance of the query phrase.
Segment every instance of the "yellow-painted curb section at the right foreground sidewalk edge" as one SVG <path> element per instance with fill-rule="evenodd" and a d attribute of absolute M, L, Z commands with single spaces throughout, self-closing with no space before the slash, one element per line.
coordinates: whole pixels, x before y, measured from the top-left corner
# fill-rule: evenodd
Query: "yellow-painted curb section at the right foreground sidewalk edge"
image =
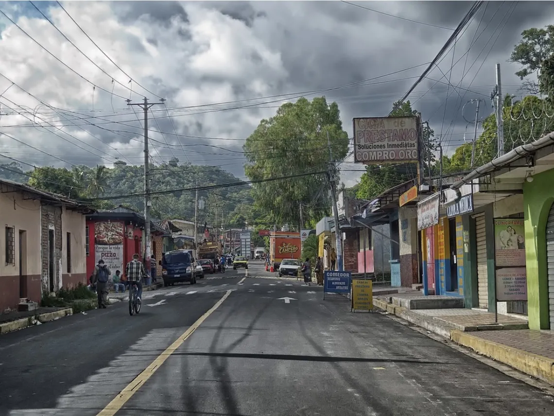
<path fill-rule="evenodd" d="M 471 348 L 480 355 L 493 358 L 554 386 L 554 359 L 485 340 L 459 330 L 452 331 L 450 339 L 459 345 Z"/>

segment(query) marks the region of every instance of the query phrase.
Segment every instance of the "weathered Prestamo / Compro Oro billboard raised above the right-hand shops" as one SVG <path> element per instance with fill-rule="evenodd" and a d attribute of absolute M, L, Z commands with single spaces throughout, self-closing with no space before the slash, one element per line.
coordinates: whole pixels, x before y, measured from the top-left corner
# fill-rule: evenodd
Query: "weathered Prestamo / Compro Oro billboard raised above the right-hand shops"
<path fill-rule="evenodd" d="M 354 161 L 365 165 L 418 161 L 416 117 L 353 119 Z"/>

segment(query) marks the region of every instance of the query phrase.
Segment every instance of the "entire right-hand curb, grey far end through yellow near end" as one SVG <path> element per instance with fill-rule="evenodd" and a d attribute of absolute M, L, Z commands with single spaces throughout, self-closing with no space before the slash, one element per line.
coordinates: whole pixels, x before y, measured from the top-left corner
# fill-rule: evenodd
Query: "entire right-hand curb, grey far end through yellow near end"
<path fill-rule="evenodd" d="M 404 309 L 402 306 L 388 304 L 380 299 L 373 299 L 373 305 L 383 311 L 389 312 L 389 314 L 398 316 L 414 325 L 448 338 L 458 345 L 470 348 L 480 355 L 504 363 L 525 374 L 529 374 L 529 376 L 538 378 L 554 386 L 554 359 L 502 345 L 494 341 L 485 340 L 479 336 L 472 335 L 471 332 L 460 331 L 452 325 L 447 325 L 439 320 L 414 314 Z"/>

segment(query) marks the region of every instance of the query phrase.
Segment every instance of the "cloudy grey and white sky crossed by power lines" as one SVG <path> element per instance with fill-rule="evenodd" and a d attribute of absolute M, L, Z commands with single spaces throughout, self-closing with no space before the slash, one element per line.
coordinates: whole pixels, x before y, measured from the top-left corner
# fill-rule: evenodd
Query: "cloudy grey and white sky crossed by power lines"
<path fill-rule="evenodd" d="M 387 115 L 471 6 L 60 3 L 65 11 L 57 2 L 35 2 L 39 11 L 30 2 L 0 2 L 3 155 L 30 165 L 141 163 L 143 112 L 125 100 L 163 97 L 165 105 L 149 114 L 153 162 L 177 157 L 241 178 L 245 138 L 286 100 L 337 101 L 350 135 L 352 117 Z M 497 62 L 504 92 L 521 95 L 519 67 L 507 59 L 522 30 L 553 16 L 553 2 L 485 2 L 417 86 L 409 99 L 447 152 L 464 142 L 466 127 L 473 134 L 461 111 L 467 101 L 484 99 L 481 114 L 490 114 Z M 466 106 L 467 120 L 474 108 Z M 342 169 L 351 186 L 362 166 Z"/>

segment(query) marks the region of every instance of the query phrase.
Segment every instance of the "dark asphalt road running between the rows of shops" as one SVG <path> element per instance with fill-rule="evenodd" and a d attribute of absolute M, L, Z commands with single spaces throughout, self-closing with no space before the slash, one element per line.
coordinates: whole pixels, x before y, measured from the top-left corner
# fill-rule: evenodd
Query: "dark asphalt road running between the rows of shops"
<path fill-rule="evenodd" d="M 537 416 L 552 400 L 254 261 L 145 292 L 137 316 L 120 302 L 0 337 L 9 416 Z"/>

